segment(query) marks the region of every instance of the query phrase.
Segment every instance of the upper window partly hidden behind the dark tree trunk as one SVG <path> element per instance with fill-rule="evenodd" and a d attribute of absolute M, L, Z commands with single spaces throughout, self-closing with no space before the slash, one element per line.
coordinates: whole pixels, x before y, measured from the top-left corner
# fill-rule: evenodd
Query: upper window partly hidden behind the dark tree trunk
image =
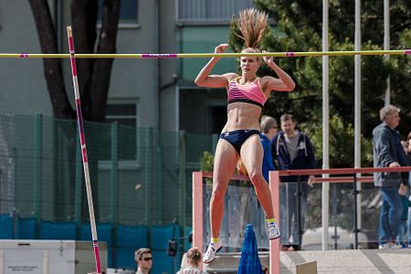
<path fill-rule="evenodd" d="M 102 19 L 102 3 L 99 0 L 99 25 Z M 120 6 L 120 26 L 137 26 L 139 23 L 138 0 L 121 0 Z"/>

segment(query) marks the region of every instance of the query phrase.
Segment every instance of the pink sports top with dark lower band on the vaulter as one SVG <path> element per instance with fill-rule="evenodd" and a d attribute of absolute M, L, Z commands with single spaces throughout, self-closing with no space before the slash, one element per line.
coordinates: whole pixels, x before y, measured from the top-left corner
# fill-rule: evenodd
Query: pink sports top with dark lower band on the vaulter
<path fill-rule="evenodd" d="M 237 79 L 239 79 L 239 77 L 230 80 L 228 83 L 228 104 L 237 101 L 248 102 L 258 105 L 262 109 L 267 98 L 259 86 L 259 78 L 245 85 L 238 84 Z"/>

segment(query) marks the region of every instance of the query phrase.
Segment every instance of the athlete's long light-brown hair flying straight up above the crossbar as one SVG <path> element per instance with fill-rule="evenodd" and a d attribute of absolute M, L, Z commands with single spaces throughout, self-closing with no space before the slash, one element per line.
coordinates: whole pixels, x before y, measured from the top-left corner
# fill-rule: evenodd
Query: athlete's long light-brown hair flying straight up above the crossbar
<path fill-rule="evenodd" d="M 268 18 L 269 16 L 266 13 L 255 8 L 248 8 L 239 12 L 235 22 L 241 33 L 234 32 L 234 34 L 244 40 L 246 50 L 249 47 L 258 49 Z"/>

